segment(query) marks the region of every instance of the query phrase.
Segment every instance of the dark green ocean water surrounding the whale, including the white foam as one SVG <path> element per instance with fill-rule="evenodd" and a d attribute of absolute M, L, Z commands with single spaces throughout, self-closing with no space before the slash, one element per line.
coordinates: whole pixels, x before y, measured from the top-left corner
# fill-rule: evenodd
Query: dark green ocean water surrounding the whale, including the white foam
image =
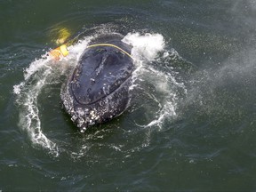
<path fill-rule="evenodd" d="M 255 0 L 5 0 L 0 16 L 1 191 L 256 190 Z M 60 89 L 111 33 L 133 46 L 131 105 L 80 133 Z"/>

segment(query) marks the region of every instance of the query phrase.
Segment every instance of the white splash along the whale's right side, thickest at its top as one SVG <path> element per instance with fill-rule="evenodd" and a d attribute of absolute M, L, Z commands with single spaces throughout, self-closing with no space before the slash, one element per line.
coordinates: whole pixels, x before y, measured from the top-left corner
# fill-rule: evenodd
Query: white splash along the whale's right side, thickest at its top
<path fill-rule="evenodd" d="M 177 87 L 182 88 L 184 92 L 186 89 L 184 84 L 178 83 L 166 68 L 164 70 L 160 68 L 163 65 L 163 60 L 177 59 L 180 56 L 174 49 L 171 51 L 164 49 L 164 36 L 160 34 L 147 33 L 140 35 L 140 33 L 129 33 L 124 36 L 123 41 L 132 45 L 132 57 L 136 59 L 137 63 L 137 70 L 135 70 L 133 76 L 133 86 L 143 87 L 143 92 L 147 92 L 148 95 L 148 103 L 156 103 L 158 107 L 155 111 L 156 114 L 154 114 L 156 118 L 151 118 L 148 124 L 140 124 L 140 126 L 157 126 L 161 129 L 166 118 L 177 116 L 175 112 L 178 100 Z M 159 57 L 162 60 L 159 60 Z M 143 85 L 145 81 L 154 87 L 153 92 L 150 89 L 147 90 L 147 86 Z M 162 95 L 162 97 L 159 97 L 159 95 Z"/>

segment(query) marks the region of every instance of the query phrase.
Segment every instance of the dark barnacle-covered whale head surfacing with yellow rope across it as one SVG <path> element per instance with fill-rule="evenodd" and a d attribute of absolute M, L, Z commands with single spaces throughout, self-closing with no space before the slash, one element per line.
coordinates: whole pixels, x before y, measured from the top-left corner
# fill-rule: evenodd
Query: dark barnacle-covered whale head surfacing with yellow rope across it
<path fill-rule="evenodd" d="M 115 44 L 131 54 L 122 36 L 100 36 L 91 44 Z M 87 47 L 61 89 L 60 100 L 71 120 L 84 132 L 121 115 L 129 106 L 134 64 L 126 53 L 112 46 Z"/>

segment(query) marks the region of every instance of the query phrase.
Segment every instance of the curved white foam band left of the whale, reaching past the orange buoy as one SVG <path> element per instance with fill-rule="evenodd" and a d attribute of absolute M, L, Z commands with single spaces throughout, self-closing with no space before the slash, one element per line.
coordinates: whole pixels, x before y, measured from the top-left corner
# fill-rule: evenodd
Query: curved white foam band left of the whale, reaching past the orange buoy
<path fill-rule="evenodd" d="M 76 64 L 89 39 L 87 38 L 68 47 L 68 57 L 58 62 L 52 61 L 50 56 L 46 54 L 42 55 L 41 59 L 33 61 L 24 70 L 24 81 L 13 86 L 13 93 L 17 95 L 17 103 L 20 105 L 20 128 L 28 133 L 28 137 L 34 146 L 47 148 L 54 156 L 59 156 L 60 150 L 57 144 L 47 138 L 42 130 L 37 98 L 46 84 L 52 84 L 51 81 L 54 77 L 58 78 L 58 75 L 65 73 L 67 62 L 69 65 Z M 56 74 L 56 70 L 60 73 Z"/>

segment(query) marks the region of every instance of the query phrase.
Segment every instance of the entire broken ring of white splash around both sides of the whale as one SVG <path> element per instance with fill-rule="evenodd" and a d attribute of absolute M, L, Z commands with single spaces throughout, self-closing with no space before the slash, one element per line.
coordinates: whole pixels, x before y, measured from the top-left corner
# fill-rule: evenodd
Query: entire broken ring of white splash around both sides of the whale
<path fill-rule="evenodd" d="M 86 47 L 92 40 L 92 37 L 98 35 L 99 34 L 85 36 L 84 39 L 81 39 L 77 44 L 68 47 L 68 57 L 60 60 L 58 65 L 45 55 L 42 56 L 41 59 L 35 60 L 25 69 L 24 81 L 13 86 L 13 92 L 17 95 L 17 103 L 20 110 L 19 125 L 24 132 L 28 133 L 33 146 L 49 149 L 55 156 L 59 156 L 60 151 L 62 151 L 58 139 L 53 142 L 44 132 L 39 116 L 40 109 L 38 108 L 38 96 L 45 86 L 60 84 L 60 82 L 56 80 L 58 79 L 58 76 L 67 75 L 67 71 L 70 68 L 75 67 L 80 55 L 84 52 L 84 47 Z M 171 118 L 177 115 L 175 112 L 177 100 L 177 90 L 175 90 L 175 87 L 181 87 L 183 89 L 184 85 L 179 84 L 170 72 L 159 70 L 159 66 L 157 66 L 161 65 L 158 60 L 159 57 L 161 57 L 159 56 L 159 52 L 162 52 L 162 58 L 164 58 L 164 60 L 170 60 L 170 57 L 176 53 L 174 51 L 170 52 L 164 50 L 164 37 L 160 34 L 140 35 L 139 33 L 129 33 L 127 36 L 124 36 L 123 41 L 126 44 L 132 44 L 133 46 L 132 57 L 135 60 L 136 69 L 133 74 L 132 89 L 136 87 L 136 89 L 144 90 L 145 92 L 143 95 L 146 95 L 147 97 L 146 102 L 151 103 L 149 107 L 151 105 L 152 108 L 155 106 L 157 107 L 155 111 L 143 108 L 145 109 L 145 114 L 149 113 L 149 116 L 153 117 L 149 118 L 148 122 L 140 124 L 139 127 L 142 126 L 147 128 L 156 126 L 161 128 L 166 118 Z M 56 72 L 56 70 L 58 72 Z M 153 92 L 151 92 L 152 90 L 150 87 L 153 88 Z M 143 105 L 147 106 L 147 103 L 144 103 Z M 127 134 L 126 131 L 125 134 Z M 97 133 L 95 133 L 95 135 L 97 136 Z M 101 135 L 101 137 L 103 136 Z M 125 144 L 111 144 L 109 148 L 116 151 L 126 150 L 131 152 L 147 146 L 150 142 L 150 133 L 147 132 L 145 138 L 145 142 L 143 141 L 143 143 L 140 143 L 140 147 L 136 146 L 132 149 L 124 149 Z M 90 140 L 90 138 L 86 139 L 87 142 Z M 88 143 L 85 144 L 85 146 L 83 144 L 81 146 L 78 149 L 78 152 L 76 149 L 76 151 L 73 150 L 68 153 L 71 154 L 71 156 L 79 158 L 88 153 L 88 150 L 92 148 Z"/>

